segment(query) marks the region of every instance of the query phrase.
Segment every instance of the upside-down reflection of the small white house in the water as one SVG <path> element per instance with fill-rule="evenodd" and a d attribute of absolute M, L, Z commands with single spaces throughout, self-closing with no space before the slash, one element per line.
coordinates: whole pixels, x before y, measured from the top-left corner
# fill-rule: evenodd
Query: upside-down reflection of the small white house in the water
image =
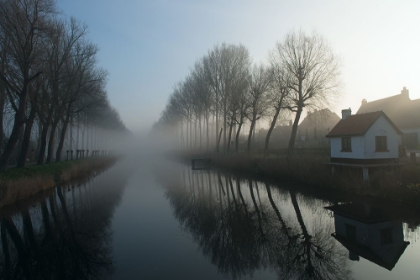
<path fill-rule="evenodd" d="M 401 222 L 387 219 L 368 205 L 343 204 L 327 207 L 334 211 L 335 233 L 332 234 L 349 250 L 349 258 L 359 256 L 392 270 L 405 248 Z"/>

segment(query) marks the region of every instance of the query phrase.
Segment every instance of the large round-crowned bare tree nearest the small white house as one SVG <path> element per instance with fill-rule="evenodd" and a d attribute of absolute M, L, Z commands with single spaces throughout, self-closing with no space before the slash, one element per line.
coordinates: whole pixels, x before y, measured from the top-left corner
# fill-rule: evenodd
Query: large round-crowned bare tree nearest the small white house
<path fill-rule="evenodd" d="M 338 92 L 338 60 L 322 36 L 303 31 L 288 33 L 275 52 L 288 78 L 288 108 L 296 113 L 289 141 L 292 154 L 303 108 L 326 105 Z"/>

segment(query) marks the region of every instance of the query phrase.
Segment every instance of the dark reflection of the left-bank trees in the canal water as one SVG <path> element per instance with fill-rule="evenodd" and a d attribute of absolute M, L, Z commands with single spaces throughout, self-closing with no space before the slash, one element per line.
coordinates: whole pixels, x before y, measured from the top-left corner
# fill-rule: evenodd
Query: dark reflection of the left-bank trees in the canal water
<path fill-rule="evenodd" d="M 110 221 L 124 177 L 57 187 L 35 206 L 0 217 L 0 278 L 105 279 L 114 269 Z"/>

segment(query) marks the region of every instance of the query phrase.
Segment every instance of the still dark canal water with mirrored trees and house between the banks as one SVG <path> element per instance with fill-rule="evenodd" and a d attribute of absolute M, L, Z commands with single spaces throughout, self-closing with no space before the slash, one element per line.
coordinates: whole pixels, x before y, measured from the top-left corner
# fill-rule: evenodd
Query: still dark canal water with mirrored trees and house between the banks
<path fill-rule="evenodd" d="M 420 215 L 397 208 L 122 161 L 1 209 L 0 278 L 420 279 Z"/>

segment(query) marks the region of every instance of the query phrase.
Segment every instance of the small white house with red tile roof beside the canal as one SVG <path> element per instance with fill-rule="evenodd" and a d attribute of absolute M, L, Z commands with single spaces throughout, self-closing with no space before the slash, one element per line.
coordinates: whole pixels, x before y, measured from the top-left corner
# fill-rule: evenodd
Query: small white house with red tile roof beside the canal
<path fill-rule="evenodd" d="M 383 111 L 343 118 L 327 134 L 331 146 L 331 163 L 384 164 L 397 162 L 400 129 Z"/>

